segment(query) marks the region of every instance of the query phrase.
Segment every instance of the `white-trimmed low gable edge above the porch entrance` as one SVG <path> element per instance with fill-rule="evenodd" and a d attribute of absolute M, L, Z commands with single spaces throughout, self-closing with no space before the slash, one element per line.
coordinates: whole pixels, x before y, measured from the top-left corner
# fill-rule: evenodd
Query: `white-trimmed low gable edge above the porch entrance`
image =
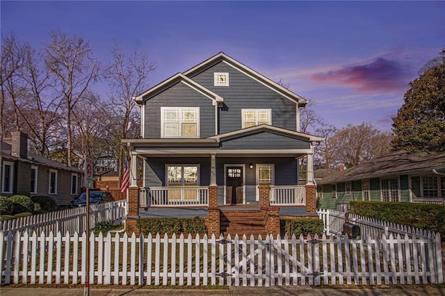
<path fill-rule="evenodd" d="M 298 131 L 290 131 L 289 129 L 282 129 L 277 126 L 270 126 L 267 124 L 261 124 L 257 126 L 251 126 L 246 129 L 238 129 L 237 131 L 230 131 L 229 133 L 221 133 L 219 135 L 213 135 L 209 139 L 216 139 L 218 142 L 223 140 L 229 140 L 233 138 L 241 138 L 254 133 L 269 132 L 278 135 L 284 135 L 289 138 L 295 138 L 298 140 L 305 140 L 307 142 L 320 142 L 323 138 L 316 135 L 309 135 L 309 133 L 300 133 Z"/>

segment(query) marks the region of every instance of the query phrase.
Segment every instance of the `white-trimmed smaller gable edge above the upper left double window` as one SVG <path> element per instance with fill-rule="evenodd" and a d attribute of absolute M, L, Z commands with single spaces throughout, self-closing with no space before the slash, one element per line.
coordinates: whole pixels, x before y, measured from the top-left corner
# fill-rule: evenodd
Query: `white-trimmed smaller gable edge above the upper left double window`
<path fill-rule="evenodd" d="M 192 79 L 189 79 L 187 76 L 184 76 L 184 74 L 181 73 L 171 76 L 169 79 L 166 79 L 165 81 L 159 83 L 158 85 L 155 85 L 153 88 L 150 88 L 149 90 L 143 92 L 142 94 L 139 94 L 133 99 L 136 101 L 137 104 L 143 104 L 145 100 L 154 97 L 156 94 L 163 92 L 164 90 L 170 88 L 172 85 L 175 85 L 177 83 L 184 83 L 189 88 L 193 88 L 193 90 L 200 92 L 205 97 L 212 99 L 214 104 L 223 102 L 223 97 L 216 94 L 215 92 L 212 92 L 208 88 L 204 88 L 204 86 L 200 85 L 200 83 L 197 83 Z"/>

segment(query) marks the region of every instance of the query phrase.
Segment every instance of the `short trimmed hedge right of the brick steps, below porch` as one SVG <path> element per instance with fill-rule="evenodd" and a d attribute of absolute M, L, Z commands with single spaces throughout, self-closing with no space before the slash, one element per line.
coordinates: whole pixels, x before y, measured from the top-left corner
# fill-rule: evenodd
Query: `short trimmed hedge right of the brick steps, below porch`
<path fill-rule="evenodd" d="M 300 236 L 300 233 L 302 233 L 303 236 L 307 236 L 309 233 L 312 235 L 315 233 L 322 235 L 325 229 L 325 224 L 323 224 L 323 220 L 318 219 L 318 217 L 285 218 L 280 220 L 280 227 L 281 232 L 287 233 L 288 236 L 291 236 L 292 234 Z"/>

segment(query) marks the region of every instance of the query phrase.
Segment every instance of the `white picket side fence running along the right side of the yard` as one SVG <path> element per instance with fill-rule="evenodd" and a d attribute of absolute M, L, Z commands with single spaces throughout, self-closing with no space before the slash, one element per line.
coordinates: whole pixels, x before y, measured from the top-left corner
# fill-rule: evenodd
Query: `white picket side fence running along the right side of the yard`
<path fill-rule="evenodd" d="M 325 233 L 341 234 L 343 231 L 343 224 L 345 223 L 345 212 L 331 209 L 320 209 L 317 213 L 318 217 L 323 220 L 325 224 Z M 378 238 L 383 234 L 385 234 L 386 237 L 388 237 L 389 234 L 392 234 L 393 236 L 396 236 L 397 234 L 404 236 L 405 233 L 407 233 L 409 237 L 413 235 L 433 239 L 436 237 L 434 231 L 407 227 L 405 225 L 351 213 L 349 214 L 349 220 L 351 223 L 360 227 L 361 236 L 370 236 L 371 238 Z"/>

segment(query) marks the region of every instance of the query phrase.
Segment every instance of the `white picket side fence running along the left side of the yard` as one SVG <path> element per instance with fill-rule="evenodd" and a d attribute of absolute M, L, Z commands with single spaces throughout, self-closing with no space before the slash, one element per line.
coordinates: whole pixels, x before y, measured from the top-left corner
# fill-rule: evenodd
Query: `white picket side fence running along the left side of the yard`
<path fill-rule="evenodd" d="M 126 215 L 127 201 L 90 205 L 90 228 L 99 222 L 122 224 Z M 0 222 L 1 231 L 36 231 L 40 233 L 81 233 L 86 231 L 86 207 L 32 215 Z"/>

